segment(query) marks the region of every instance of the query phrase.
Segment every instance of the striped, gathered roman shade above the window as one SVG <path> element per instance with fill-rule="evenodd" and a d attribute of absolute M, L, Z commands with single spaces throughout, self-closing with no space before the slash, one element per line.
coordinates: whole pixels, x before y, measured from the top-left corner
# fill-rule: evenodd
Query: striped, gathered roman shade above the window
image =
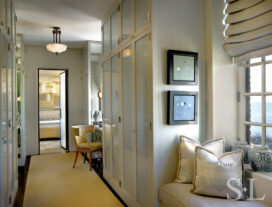
<path fill-rule="evenodd" d="M 239 59 L 272 46 L 272 0 L 225 0 L 225 4 L 226 53 Z"/>

